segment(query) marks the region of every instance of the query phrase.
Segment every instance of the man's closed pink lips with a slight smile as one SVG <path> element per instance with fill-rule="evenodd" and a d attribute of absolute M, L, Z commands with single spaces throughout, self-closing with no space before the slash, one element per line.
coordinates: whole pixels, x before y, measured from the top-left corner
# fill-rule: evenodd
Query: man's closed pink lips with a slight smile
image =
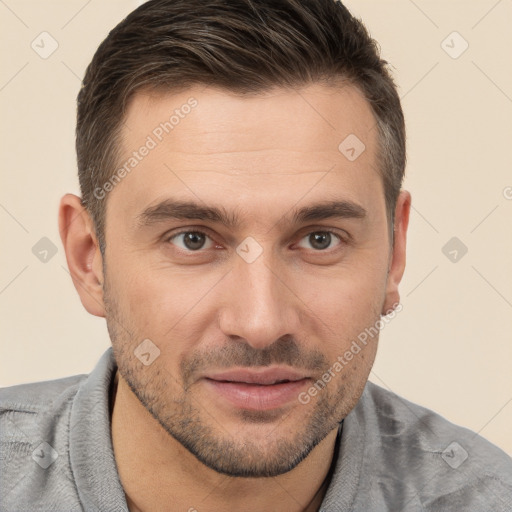
<path fill-rule="evenodd" d="M 267 411 L 296 401 L 309 376 L 289 368 L 234 369 L 203 377 L 212 393 L 236 408 Z"/>

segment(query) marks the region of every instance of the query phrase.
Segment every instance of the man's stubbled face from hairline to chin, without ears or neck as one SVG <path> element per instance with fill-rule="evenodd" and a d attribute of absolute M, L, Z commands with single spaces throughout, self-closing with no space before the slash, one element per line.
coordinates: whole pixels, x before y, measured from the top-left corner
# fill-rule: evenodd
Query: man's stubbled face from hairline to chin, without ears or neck
<path fill-rule="evenodd" d="M 104 199 L 119 373 L 210 468 L 287 472 L 357 403 L 377 349 L 344 358 L 380 319 L 391 254 L 370 107 L 348 85 L 197 87 L 139 93 L 125 121 L 129 171 Z M 340 151 L 350 134 L 364 151 Z"/>

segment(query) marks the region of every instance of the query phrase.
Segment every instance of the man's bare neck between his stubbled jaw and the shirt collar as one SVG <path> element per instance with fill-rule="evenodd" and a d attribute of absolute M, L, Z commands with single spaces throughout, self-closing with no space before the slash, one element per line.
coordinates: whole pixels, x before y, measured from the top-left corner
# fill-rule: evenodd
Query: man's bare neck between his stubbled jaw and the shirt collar
<path fill-rule="evenodd" d="M 293 470 L 271 478 L 230 477 L 213 471 L 171 437 L 117 373 L 112 442 L 130 512 L 195 509 L 287 510 L 320 508 L 329 484 L 337 429 Z"/>

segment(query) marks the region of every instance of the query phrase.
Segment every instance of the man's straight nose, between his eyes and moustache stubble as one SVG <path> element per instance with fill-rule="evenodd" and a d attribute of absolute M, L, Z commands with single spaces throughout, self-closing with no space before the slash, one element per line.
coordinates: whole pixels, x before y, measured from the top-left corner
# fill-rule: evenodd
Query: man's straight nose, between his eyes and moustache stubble
<path fill-rule="evenodd" d="M 238 258 L 224 282 L 219 314 L 224 335 L 241 338 L 257 349 L 285 335 L 297 337 L 302 303 L 290 279 L 265 252 L 252 263 Z"/>

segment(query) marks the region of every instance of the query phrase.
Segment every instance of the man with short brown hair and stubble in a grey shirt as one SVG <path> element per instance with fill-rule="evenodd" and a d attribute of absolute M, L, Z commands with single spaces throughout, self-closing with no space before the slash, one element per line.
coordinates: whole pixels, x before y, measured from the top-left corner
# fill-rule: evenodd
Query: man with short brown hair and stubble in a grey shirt
<path fill-rule="evenodd" d="M 512 510 L 505 453 L 368 382 L 411 196 L 341 3 L 143 4 L 87 69 L 76 147 L 60 232 L 112 348 L 2 390 L 1 510 Z"/>

